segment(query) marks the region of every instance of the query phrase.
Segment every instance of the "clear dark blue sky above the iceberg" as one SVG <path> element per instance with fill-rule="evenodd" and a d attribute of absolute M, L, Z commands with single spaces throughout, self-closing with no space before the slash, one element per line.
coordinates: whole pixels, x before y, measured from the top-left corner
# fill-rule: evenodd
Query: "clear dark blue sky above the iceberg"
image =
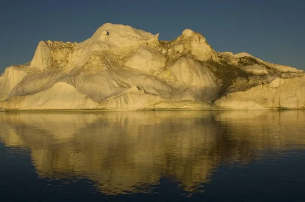
<path fill-rule="evenodd" d="M 305 70 L 305 0 L 0 0 L 0 73 L 31 61 L 39 41 L 81 42 L 106 22 L 160 40 L 190 28 L 216 51 Z"/>

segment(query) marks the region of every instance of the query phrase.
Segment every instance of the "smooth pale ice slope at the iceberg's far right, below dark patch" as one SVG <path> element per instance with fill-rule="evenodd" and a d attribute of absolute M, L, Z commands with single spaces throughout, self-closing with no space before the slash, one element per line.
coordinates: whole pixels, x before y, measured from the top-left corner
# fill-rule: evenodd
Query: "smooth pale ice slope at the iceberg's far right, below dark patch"
<path fill-rule="evenodd" d="M 229 93 L 216 100 L 219 107 L 244 110 L 268 108 L 305 108 L 305 76 L 275 79 L 246 91 Z"/>

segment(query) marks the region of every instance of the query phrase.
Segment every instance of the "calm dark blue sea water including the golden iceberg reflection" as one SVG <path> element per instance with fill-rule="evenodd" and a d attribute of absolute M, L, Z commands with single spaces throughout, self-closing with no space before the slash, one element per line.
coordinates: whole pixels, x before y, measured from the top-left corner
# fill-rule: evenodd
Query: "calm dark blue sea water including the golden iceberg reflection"
<path fill-rule="evenodd" d="M 2 112 L 0 201 L 305 201 L 305 111 Z"/>

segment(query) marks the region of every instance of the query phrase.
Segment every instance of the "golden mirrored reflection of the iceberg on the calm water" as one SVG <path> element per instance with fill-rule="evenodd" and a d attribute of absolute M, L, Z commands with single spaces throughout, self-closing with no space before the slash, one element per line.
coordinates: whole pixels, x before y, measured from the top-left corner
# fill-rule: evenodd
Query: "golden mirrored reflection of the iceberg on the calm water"
<path fill-rule="evenodd" d="M 85 177 L 118 194 L 165 177 L 195 192 L 219 163 L 303 149 L 304 120 L 305 111 L 7 112 L 0 138 L 31 149 L 41 178 Z"/>

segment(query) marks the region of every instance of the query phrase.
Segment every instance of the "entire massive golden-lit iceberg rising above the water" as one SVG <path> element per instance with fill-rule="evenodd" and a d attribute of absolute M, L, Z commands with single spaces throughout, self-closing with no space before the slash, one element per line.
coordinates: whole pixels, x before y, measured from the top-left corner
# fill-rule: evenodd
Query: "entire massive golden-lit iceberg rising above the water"
<path fill-rule="evenodd" d="M 215 52 L 186 29 L 173 41 L 106 23 L 81 43 L 39 42 L 0 76 L 0 109 L 300 109 L 305 73 Z"/>

